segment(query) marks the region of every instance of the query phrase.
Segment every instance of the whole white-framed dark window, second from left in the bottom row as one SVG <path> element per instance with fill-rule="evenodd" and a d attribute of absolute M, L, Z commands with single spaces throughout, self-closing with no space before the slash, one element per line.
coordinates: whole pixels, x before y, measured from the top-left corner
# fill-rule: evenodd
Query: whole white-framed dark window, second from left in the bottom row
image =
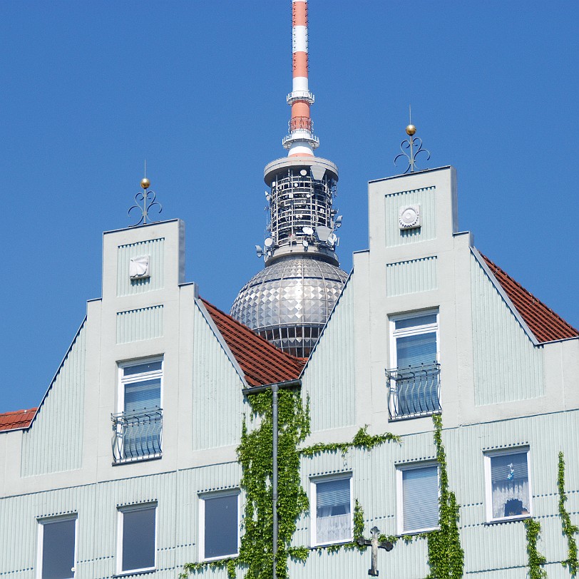
<path fill-rule="evenodd" d="M 135 505 L 118 511 L 117 572 L 154 570 L 157 505 Z"/>

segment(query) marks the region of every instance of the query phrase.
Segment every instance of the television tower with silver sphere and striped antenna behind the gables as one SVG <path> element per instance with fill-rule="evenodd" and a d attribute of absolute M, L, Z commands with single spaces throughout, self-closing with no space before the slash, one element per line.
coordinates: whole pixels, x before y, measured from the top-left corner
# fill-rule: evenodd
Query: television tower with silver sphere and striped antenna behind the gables
<path fill-rule="evenodd" d="M 309 356 L 347 280 L 336 255 L 342 216 L 332 208 L 338 168 L 314 156 L 307 37 L 307 0 L 292 0 L 292 115 L 282 140 L 288 153 L 264 170 L 267 237 L 255 248 L 265 268 L 231 308 L 232 317 L 299 357 Z"/>

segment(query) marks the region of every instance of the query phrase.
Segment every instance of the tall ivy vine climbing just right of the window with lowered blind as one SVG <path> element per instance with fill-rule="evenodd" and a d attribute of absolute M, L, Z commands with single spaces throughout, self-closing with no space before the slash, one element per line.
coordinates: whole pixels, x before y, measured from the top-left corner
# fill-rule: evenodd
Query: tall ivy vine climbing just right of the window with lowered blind
<path fill-rule="evenodd" d="M 428 543 L 430 573 L 426 579 L 460 579 L 463 576 L 464 551 L 458 533 L 458 503 L 454 492 L 449 490 L 446 470 L 446 451 L 442 442 L 442 418 L 432 416 L 434 422 L 434 446 L 439 463 L 439 529 L 424 533 Z"/>

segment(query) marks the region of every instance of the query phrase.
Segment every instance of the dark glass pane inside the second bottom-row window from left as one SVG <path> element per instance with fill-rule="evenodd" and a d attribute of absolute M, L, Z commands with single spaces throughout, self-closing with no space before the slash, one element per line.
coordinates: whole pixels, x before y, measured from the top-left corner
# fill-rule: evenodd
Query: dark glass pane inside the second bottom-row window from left
<path fill-rule="evenodd" d="M 123 513 L 123 571 L 155 566 L 155 507 Z"/>

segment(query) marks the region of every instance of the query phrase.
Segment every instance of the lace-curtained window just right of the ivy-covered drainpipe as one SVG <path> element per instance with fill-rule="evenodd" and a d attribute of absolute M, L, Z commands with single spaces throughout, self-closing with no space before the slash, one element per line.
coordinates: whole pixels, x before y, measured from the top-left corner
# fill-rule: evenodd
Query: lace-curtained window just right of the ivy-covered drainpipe
<path fill-rule="evenodd" d="M 312 482 L 314 545 L 352 540 L 352 477 Z"/>

